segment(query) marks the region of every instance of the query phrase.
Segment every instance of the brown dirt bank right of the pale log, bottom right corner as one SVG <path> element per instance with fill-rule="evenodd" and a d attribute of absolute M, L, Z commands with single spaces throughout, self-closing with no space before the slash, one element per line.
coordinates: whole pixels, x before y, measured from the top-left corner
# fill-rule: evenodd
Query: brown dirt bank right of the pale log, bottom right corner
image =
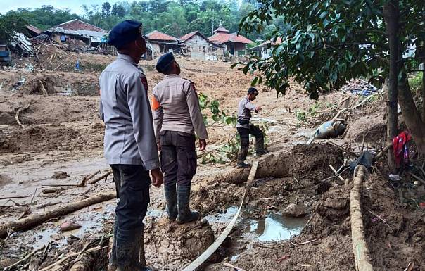
<path fill-rule="evenodd" d="M 406 203 L 399 203 L 393 189 L 379 175 L 370 175 L 364 187 L 367 189 L 364 189 L 367 192 L 364 191 L 362 198 L 364 234 L 375 270 L 404 270 L 407 263 L 413 261 L 416 266 L 414 270 L 423 270 L 424 208 L 411 210 Z"/>

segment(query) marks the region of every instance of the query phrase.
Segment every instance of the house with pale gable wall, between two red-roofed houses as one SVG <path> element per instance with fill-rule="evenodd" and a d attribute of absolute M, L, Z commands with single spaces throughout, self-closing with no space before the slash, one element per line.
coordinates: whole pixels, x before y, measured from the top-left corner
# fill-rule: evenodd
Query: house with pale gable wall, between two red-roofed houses
<path fill-rule="evenodd" d="M 194 31 L 179 38 L 184 45 L 183 51 L 191 58 L 202 60 L 217 60 L 218 56 L 223 56 L 224 48 L 218 44 L 210 42 L 201 32 Z"/>

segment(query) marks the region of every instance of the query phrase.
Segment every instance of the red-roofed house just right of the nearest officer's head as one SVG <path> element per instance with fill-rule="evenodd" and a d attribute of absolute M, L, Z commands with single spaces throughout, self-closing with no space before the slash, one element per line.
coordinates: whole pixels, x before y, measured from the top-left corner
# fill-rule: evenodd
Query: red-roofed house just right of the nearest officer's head
<path fill-rule="evenodd" d="M 153 49 L 153 57 L 157 53 L 180 52 L 183 44 L 176 37 L 157 30 L 146 34 L 147 42 Z"/>

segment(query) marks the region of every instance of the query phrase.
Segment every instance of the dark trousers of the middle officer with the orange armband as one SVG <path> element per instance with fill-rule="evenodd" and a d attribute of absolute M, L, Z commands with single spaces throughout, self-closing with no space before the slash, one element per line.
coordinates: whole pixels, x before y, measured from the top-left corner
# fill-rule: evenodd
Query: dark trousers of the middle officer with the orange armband
<path fill-rule="evenodd" d="M 194 134 L 163 131 L 160 134 L 160 144 L 164 185 L 190 185 L 196 174 Z"/>

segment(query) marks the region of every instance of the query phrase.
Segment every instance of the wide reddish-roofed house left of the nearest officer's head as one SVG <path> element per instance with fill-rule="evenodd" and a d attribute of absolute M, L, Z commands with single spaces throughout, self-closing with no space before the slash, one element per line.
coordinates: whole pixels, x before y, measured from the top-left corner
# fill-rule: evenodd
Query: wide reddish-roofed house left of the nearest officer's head
<path fill-rule="evenodd" d="M 98 46 L 108 34 L 106 30 L 100 27 L 77 19 L 51 27 L 49 30 L 46 30 L 46 33 L 56 42 L 65 42 L 75 46 Z"/>

